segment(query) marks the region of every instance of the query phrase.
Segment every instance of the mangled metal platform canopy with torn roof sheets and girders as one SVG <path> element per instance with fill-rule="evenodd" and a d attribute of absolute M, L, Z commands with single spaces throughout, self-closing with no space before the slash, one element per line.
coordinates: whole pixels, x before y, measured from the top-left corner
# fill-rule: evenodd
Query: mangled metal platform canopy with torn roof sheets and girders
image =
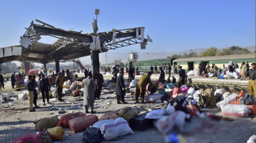
<path fill-rule="evenodd" d="M 112 31 L 101 33 L 81 33 L 82 31 L 56 28 L 40 20 L 36 22 L 41 25 L 32 21 L 31 25 L 25 28 L 27 31 L 21 37 L 21 45 L 0 48 L 0 63 L 33 61 L 44 64 L 46 69 L 46 63 L 55 62 L 56 71 L 60 71 L 60 60 L 91 56 L 94 72 L 94 69 L 99 69 L 100 52 L 139 43 L 142 48 L 145 48 L 146 42 L 152 42 L 149 35 L 147 39 L 144 38 L 144 27 L 112 29 Z M 56 37 L 57 40 L 53 44 L 38 42 L 43 35 Z"/>

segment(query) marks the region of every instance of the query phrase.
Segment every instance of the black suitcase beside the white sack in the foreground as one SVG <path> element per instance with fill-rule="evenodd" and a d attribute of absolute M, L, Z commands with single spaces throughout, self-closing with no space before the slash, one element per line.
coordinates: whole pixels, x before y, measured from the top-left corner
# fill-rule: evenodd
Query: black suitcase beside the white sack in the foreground
<path fill-rule="evenodd" d="M 131 118 L 131 120 L 129 121 L 129 126 L 131 127 L 131 129 L 135 129 L 137 131 L 145 131 L 149 127 L 152 127 L 153 119 L 144 118 L 146 114 L 148 113 L 146 112 Z"/>

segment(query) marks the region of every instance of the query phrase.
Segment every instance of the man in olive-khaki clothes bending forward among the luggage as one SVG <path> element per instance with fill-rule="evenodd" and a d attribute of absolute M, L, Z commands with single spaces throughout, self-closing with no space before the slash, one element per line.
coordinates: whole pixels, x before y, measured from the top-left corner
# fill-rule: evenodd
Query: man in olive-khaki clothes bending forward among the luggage
<path fill-rule="evenodd" d="M 136 103 L 138 103 L 138 98 L 141 95 L 142 98 L 142 104 L 144 104 L 144 95 L 145 95 L 145 91 L 146 91 L 146 85 L 150 84 L 149 86 L 152 86 L 152 82 L 151 82 L 151 72 L 149 72 L 148 74 L 144 74 L 141 76 L 140 80 L 137 83 L 136 86 Z"/>

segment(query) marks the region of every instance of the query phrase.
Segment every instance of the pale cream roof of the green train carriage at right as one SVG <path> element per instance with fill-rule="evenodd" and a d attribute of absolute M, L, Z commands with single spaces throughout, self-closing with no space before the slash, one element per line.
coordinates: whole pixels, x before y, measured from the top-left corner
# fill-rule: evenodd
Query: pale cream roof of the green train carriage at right
<path fill-rule="evenodd" d="M 235 54 L 235 55 L 227 55 L 227 56 L 184 58 L 184 59 L 175 59 L 173 62 L 177 62 L 177 61 L 212 61 L 212 60 L 222 60 L 222 59 L 248 59 L 248 58 L 255 58 L 255 54 Z"/>

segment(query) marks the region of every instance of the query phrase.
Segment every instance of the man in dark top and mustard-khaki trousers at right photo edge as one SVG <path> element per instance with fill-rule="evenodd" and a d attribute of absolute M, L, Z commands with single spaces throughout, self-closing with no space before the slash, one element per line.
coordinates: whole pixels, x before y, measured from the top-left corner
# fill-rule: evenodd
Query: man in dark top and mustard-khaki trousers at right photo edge
<path fill-rule="evenodd" d="M 255 97 L 255 63 L 251 64 L 252 69 L 247 72 L 247 79 L 249 80 L 249 92 Z"/>

